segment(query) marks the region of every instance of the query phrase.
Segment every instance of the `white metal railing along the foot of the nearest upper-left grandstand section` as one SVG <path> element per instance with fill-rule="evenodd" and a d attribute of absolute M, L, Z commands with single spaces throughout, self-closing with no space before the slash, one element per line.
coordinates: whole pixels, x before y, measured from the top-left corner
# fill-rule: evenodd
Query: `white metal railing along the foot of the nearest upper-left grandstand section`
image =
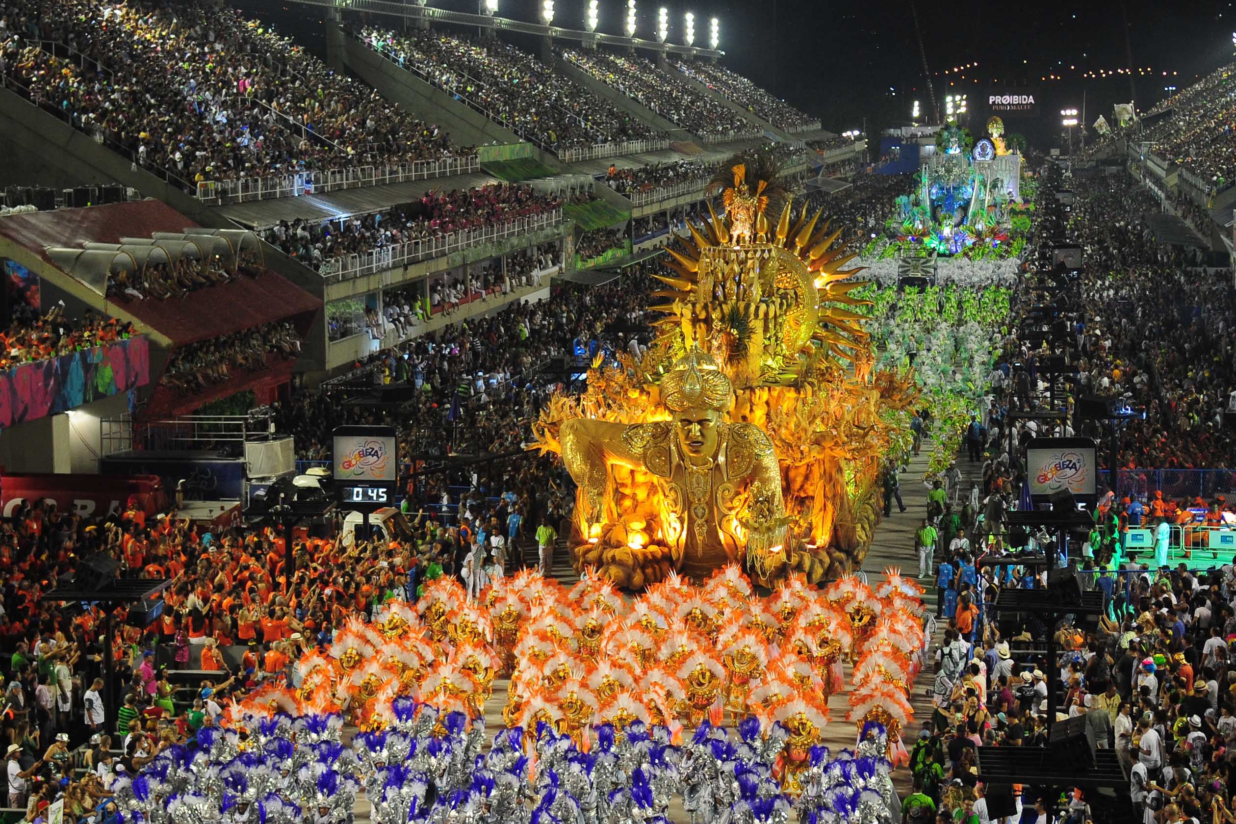
<path fill-rule="evenodd" d="M 203 180 L 198 184 L 194 194 L 198 200 L 208 206 L 221 206 L 253 200 L 299 198 L 307 194 L 323 194 L 340 189 L 361 189 L 372 185 L 384 185 L 387 183 L 431 180 L 434 178 L 471 174 L 480 170 L 481 161 L 476 154 L 468 154 L 467 157 L 442 157 L 433 161 L 413 161 L 409 163 L 357 166 L 319 172 L 294 172 L 290 174 L 241 178 L 240 180 Z"/>

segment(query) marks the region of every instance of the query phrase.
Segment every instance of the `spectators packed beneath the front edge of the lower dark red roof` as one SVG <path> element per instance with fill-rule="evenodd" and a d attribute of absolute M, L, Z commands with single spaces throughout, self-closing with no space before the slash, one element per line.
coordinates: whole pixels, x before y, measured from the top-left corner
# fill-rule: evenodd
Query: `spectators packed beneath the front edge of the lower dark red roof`
<path fill-rule="evenodd" d="M 288 322 L 269 322 L 172 351 L 159 383 L 182 395 L 205 392 L 224 383 L 232 372 L 260 372 L 267 357 L 284 359 L 300 352 L 300 336 Z"/>

